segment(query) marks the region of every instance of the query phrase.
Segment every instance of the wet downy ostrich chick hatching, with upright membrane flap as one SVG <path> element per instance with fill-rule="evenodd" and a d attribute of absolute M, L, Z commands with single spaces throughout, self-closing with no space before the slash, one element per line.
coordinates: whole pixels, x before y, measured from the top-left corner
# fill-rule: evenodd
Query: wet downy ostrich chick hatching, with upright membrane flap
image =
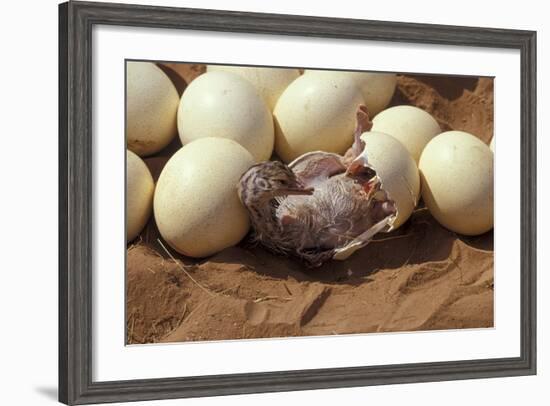
<path fill-rule="evenodd" d="M 359 106 L 353 146 L 344 156 L 310 152 L 290 165 L 262 162 L 243 174 L 239 197 L 254 238 L 268 250 L 310 267 L 345 259 L 389 227 L 394 203 L 360 155 L 372 123 Z"/>

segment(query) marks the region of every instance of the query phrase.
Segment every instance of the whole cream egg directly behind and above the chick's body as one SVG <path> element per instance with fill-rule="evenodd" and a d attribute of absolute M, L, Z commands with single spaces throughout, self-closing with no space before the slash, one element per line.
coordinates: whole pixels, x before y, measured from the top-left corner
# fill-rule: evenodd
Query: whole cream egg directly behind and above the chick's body
<path fill-rule="evenodd" d="M 275 117 L 275 151 L 284 162 L 312 151 L 344 154 L 353 143 L 355 114 L 364 104 L 346 77 L 302 75 L 283 92 Z"/>

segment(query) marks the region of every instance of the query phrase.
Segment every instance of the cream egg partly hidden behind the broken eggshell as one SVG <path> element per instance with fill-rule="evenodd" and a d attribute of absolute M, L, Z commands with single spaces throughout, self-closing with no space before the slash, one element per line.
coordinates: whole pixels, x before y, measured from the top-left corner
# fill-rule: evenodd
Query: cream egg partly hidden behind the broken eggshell
<path fill-rule="evenodd" d="M 372 131 L 395 137 L 407 148 L 417 164 L 424 147 L 441 133 L 435 118 L 414 106 L 390 107 L 374 117 L 372 123 Z"/>

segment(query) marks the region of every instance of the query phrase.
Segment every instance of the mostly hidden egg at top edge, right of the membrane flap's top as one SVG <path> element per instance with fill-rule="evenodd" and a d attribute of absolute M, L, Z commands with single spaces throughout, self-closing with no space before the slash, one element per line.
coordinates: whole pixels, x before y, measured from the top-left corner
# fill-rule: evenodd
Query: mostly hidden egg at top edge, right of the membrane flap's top
<path fill-rule="evenodd" d="M 397 76 L 394 73 L 306 70 L 304 74 L 325 77 L 342 76 L 353 79 L 363 94 L 371 118 L 386 108 L 397 85 Z"/>

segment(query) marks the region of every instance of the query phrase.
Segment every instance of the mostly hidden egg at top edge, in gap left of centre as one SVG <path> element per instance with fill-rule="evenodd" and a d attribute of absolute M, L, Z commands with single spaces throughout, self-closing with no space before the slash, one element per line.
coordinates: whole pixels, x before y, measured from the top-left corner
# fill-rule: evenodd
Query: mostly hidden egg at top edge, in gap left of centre
<path fill-rule="evenodd" d="M 298 69 L 288 68 L 208 65 L 207 71 L 232 72 L 248 80 L 262 96 L 270 111 L 273 111 L 288 85 L 300 76 Z"/>

